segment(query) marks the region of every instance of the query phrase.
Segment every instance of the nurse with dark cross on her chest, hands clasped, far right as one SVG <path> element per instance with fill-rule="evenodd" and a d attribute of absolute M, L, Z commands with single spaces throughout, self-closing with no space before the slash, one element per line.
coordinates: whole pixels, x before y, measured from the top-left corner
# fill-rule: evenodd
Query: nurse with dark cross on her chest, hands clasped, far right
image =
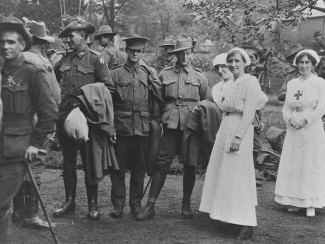
<path fill-rule="evenodd" d="M 319 62 L 313 50 L 294 58 L 301 76 L 287 84 L 282 109 L 287 130 L 275 185 L 275 201 L 291 205 L 288 211 L 306 208 L 307 216 L 325 206 L 325 80 L 312 75 Z"/>

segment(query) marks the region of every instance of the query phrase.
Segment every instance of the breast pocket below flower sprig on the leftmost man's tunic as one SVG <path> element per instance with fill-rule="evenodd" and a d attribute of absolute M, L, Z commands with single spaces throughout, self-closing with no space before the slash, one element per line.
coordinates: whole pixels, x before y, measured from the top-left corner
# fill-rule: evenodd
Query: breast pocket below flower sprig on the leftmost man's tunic
<path fill-rule="evenodd" d="M 2 86 L 3 111 L 8 113 L 28 113 L 32 109 L 28 85 L 21 84 L 14 88 Z"/>

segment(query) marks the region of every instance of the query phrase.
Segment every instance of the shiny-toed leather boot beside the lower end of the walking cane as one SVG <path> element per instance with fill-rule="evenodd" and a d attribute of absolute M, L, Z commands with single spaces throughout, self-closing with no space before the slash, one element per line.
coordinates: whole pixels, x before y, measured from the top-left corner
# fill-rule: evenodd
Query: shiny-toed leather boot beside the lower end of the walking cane
<path fill-rule="evenodd" d="M 25 189 L 25 218 L 22 221 L 23 228 L 49 229 L 47 221 L 38 215 L 38 198 L 36 190 L 31 182 L 24 182 Z"/>

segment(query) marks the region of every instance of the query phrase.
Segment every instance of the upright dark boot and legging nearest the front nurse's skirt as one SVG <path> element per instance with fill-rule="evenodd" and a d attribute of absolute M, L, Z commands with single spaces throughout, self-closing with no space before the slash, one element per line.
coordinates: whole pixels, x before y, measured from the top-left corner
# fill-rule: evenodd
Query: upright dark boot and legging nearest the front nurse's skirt
<path fill-rule="evenodd" d="M 184 165 L 183 176 L 183 199 L 181 203 L 181 214 L 184 218 L 193 218 L 193 213 L 190 209 L 190 196 L 195 183 L 195 167 Z"/>

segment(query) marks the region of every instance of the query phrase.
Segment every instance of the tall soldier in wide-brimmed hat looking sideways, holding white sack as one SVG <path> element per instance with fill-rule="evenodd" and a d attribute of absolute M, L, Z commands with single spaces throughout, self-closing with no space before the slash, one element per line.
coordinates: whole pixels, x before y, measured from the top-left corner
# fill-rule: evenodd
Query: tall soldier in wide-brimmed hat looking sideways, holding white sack
<path fill-rule="evenodd" d="M 64 131 L 63 123 L 71 110 L 70 104 L 74 103 L 74 96 L 80 94 L 80 87 L 94 82 L 103 82 L 110 92 L 114 91 L 114 84 L 103 56 L 86 45 L 88 34 L 95 31 L 94 26 L 86 21 L 72 21 L 58 35 L 59 38 L 67 37 L 71 52 L 56 63 L 54 71 L 57 80 L 61 81 L 62 100 L 59 105 L 58 122 L 56 132 L 63 154 L 63 181 L 65 188 L 64 204 L 53 212 L 53 216 L 63 216 L 75 209 L 76 191 L 76 155 L 79 147 L 82 161 L 85 158 L 85 146 L 89 142 L 77 143 L 68 137 Z M 73 105 L 72 105 L 73 106 Z M 91 167 L 91 165 L 90 165 Z M 84 170 L 85 175 L 89 175 Z M 87 178 L 87 177 L 85 177 Z M 95 180 L 94 180 L 95 181 Z M 99 219 L 97 208 L 97 182 L 86 182 L 88 198 L 88 218 Z"/>

